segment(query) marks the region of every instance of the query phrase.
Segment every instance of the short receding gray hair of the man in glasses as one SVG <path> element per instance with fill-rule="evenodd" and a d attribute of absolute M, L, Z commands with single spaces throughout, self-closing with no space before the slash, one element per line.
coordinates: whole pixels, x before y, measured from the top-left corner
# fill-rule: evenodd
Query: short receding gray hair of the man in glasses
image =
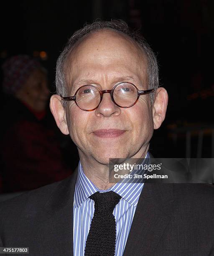
<path fill-rule="evenodd" d="M 128 36 L 132 41 L 135 41 L 138 46 L 143 50 L 143 53 L 147 59 L 147 74 L 148 74 L 148 88 L 154 88 L 155 91 L 158 88 L 158 63 L 153 50 L 150 48 L 149 44 L 145 41 L 145 38 L 138 32 L 131 32 L 127 23 L 123 20 L 111 20 L 111 21 L 95 21 L 92 24 L 85 25 L 83 28 L 76 31 L 69 41 L 67 42 L 64 50 L 59 55 L 56 62 L 56 93 L 62 97 L 67 95 L 66 86 L 66 71 L 65 64 L 66 60 L 74 48 L 75 44 L 91 33 L 101 31 L 104 29 L 109 29 L 116 31 L 117 33 L 122 33 Z M 155 92 L 150 94 L 151 104 L 153 105 L 155 100 Z M 62 105 L 66 107 L 66 101 L 62 101 Z"/>

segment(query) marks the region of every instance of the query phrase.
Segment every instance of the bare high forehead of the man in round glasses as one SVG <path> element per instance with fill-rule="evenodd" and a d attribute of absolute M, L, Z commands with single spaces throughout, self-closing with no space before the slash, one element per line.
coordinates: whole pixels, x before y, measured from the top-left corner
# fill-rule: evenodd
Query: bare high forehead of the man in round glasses
<path fill-rule="evenodd" d="M 83 38 L 72 49 L 66 65 L 68 84 L 80 80 L 114 80 L 147 77 L 143 50 L 128 36 L 104 30 Z"/>

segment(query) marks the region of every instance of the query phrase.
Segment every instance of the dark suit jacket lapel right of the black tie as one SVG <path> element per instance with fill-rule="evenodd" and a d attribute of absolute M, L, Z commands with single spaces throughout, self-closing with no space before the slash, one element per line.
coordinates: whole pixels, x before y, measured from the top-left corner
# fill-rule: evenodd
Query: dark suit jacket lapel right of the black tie
<path fill-rule="evenodd" d="M 172 202 L 172 184 L 144 184 L 124 256 L 153 255 L 170 220 Z"/>

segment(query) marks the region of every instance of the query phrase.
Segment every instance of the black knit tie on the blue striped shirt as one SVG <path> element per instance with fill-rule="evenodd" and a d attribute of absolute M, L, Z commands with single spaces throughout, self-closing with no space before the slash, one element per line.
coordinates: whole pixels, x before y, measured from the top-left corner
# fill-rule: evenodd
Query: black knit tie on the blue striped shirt
<path fill-rule="evenodd" d="M 96 192 L 89 198 L 94 200 L 94 217 L 90 226 L 84 256 L 114 256 L 116 222 L 113 210 L 121 196 L 113 191 Z"/>

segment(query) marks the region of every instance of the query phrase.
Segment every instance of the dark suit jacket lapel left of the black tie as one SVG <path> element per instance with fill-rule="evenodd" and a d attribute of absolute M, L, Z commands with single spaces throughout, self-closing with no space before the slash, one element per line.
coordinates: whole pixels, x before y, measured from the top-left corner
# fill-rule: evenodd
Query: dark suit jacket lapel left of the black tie
<path fill-rule="evenodd" d="M 38 227 L 38 255 L 73 255 L 73 204 L 77 169 L 63 180 L 46 202 L 48 217 Z"/>

